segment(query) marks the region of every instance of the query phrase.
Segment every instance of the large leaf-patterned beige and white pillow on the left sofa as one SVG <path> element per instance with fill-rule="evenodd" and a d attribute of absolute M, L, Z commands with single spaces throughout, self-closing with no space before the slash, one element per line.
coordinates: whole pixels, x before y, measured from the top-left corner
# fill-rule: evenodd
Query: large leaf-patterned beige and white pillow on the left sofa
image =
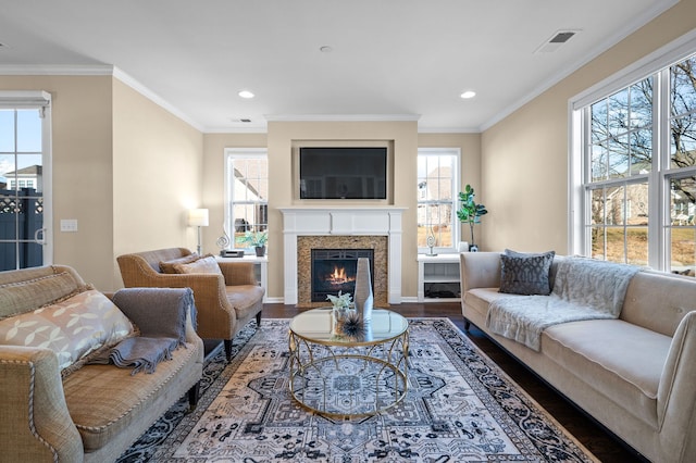
<path fill-rule="evenodd" d="M 97 290 L 0 321 L 0 345 L 53 350 L 61 370 L 133 336 L 130 321 Z"/>

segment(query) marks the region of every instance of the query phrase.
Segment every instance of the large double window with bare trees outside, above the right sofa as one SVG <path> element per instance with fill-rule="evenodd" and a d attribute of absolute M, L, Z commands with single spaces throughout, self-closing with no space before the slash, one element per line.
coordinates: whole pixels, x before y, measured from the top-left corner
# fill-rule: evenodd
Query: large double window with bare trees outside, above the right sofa
<path fill-rule="evenodd" d="M 696 54 L 668 58 L 608 96 L 573 103 L 572 246 L 694 276 Z"/>

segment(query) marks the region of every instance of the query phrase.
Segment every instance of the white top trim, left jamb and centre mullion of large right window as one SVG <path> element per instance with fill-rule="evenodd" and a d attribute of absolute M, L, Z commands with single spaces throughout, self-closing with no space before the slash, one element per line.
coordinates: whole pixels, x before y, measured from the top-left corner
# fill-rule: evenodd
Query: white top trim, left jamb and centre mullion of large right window
<path fill-rule="evenodd" d="M 647 57 L 638 60 L 632 65 L 619 71 L 618 73 L 607 77 L 606 79 L 597 83 L 587 90 L 572 97 L 568 102 L 568 249 L 570 254 L 589 255 L 587 228 L 584 227 L 586 222 L 583 217 L 585 212 L 585 192 L 582 184 L 588 168 L 583 164 L 583 160 L 586 159 L 583 152 L 583 136 L 588 136 L 589 127 L 586 127 L 583 121 L 582 110 L 598 101 L 602 98 L 612 95 L 622 88 L 625 88 L 645 77 L 657 74 L 660 70 L 669 67 L 670 65 L 678 63 L 689 55 L 694 54 L 696 50 L 696 29 L 685 34 L 684 36 L 671 41 L 670 43 L 659 48 Z M 667 79 L 658 77 L 654 84 L 656 95 L 661 95 L 658 88 L 667 86 L 669 83 Z M 654 108 L 662 114 L 669 112 L 669 101 L 661 101 L 658 97 L 654 101 Z M 654 111 L 654 114 L 657 114 Z M 654 157 L 654 163 L 660 161 L 659 153 L 669 150 L 666 148 L 666 143 L 669 145 L 668 137 L 661 137 L 663 133 L 658 129 L 657 124 L 664 124 L 664 120 L 657 122 L 654 118 L 652 127 L 656 129 L 652 139 L 654 153 L 658 154 Z M 667 122 L 669 124 L 669 121 Z M 649 174 L 649 185 L 663 185 L 663 189 L 667 189 L 669 183 L 662 182 L 664 177 L 669 177 L 670 172 L 663 168 L 652 168 Z M 662 178 L 658 178 L 661 176 Z M 667 242 L 663 239 L 666 233 L 666 224 L 669 217 L 666 216 L 664 211 L 669 211 L 669 191 L 660 191 L 659 195 L 649 196 L 649 210 L 658 211 L 656 220 L 649 221 L 648 224 L 648 249 L 657 252 L 648 252 L 648 265 L 656 270 L 669 268 L 669 252 L 666 249 Z"/>

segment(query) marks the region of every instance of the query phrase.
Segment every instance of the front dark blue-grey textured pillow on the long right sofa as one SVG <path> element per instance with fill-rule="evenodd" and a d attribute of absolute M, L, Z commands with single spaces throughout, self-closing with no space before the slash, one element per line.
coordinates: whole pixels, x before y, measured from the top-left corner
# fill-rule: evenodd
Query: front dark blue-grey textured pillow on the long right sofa
<path fill-rule="evenodd" d="M 500 255 L 500 292 L 543 295 L 551 292 L 549 273 L 555 251 L 525 254 L 506 249 Z"/>

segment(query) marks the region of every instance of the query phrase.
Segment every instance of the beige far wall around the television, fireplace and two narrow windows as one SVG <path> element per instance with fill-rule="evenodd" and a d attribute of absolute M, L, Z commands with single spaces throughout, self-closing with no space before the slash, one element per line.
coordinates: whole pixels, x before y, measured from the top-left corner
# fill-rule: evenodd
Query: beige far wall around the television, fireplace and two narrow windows
<path fill-rule="evenodd" d="M 266 134 L 206 134 L 203 160 L 203 205 L 210 209 L 210 227 L 203 247 L 216 252 L 215 240 L 224 221 L 225 148 L 268 148 L 270 160 L 269 288 L 272 299 L 283 297 L 283 234 L 278 208 L 293 204 L 291 147 L 294 140 L 394 140 L 395 205 L 408 208 L 403 216 L 402 295 L 415 298 L 418 265 L 415 241 L 415 157 L 418 148 L 460 148 L 462 184 L 480 183 L 480 134 L 418 134 L 411 122 L 272 122 Z M 345 202 L 340 202 L 345 204 Z M 467 230 L 464 230 L 467 232 Z"/>

